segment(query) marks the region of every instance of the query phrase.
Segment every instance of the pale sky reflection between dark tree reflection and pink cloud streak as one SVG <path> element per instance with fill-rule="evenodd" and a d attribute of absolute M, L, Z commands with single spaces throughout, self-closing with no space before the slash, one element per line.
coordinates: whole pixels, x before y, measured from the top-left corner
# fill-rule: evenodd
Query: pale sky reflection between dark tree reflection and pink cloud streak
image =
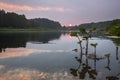
<path fill-rule="evenodd" d="M 77 45 L 77 39 L 74 37 L 70 37 L 69 35 L 61 35 L 60 39 L 51 40 L 49 43 L 51 44 L 32 44 L 27 43 L 27 48 L 32 49 L 41 49 L 41 50 L 65 50 L 71 51 L 72 49 L 79 47 Z M 72 46 L 71 46 L 72 45 Z"/>

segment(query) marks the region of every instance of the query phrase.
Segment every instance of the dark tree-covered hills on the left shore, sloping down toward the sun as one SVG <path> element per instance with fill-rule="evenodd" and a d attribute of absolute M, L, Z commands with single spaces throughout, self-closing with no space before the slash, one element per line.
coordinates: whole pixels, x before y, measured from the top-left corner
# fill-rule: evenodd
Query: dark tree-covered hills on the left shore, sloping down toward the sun
<path fill-rule="evenodd" d="M 49 28 L 59 29 L 61 24 L 46 18 L 26 19 L 25 15 L 0 10 L 0 28 Z"/>

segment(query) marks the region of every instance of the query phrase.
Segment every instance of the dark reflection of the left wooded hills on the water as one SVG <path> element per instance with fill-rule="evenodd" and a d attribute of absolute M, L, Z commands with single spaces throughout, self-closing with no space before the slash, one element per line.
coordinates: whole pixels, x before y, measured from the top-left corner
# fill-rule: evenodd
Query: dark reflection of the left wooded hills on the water
<path fill-rule="evenodd" d="M 6 48 L 26 47 L 29 41 L 48 43 L 50 40 L 59 38 L 61 33 L 1 33 L 0 34 L 0 52 Z"/>

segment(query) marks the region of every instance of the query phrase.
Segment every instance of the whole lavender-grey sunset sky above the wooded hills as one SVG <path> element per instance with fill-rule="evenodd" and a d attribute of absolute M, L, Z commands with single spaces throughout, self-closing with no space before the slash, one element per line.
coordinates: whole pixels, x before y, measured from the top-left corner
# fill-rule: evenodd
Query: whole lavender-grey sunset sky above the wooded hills
<path fill-rule="evenodd" d="M 0 9 L 65 26 L 120 19 L 120 0 L 0 0 Z"/>

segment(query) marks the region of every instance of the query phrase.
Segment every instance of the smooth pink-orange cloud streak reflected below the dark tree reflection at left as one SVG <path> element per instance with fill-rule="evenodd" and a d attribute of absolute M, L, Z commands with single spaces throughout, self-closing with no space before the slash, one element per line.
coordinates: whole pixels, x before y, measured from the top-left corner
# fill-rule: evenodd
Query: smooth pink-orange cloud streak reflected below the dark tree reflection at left
<path fill-rule="evenodd" d="M 29 56 L 33 53 L 65 52 L 64 50 L 37 50 L 25 48 L 7 48 L 4 53 L 0 54 L 0 59 Z"/>

